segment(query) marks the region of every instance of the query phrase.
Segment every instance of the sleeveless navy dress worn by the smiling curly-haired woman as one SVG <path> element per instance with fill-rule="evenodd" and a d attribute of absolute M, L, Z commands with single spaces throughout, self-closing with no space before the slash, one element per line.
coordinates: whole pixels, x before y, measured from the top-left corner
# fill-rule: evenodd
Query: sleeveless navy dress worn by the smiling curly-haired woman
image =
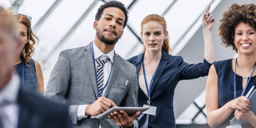
<path fill-rule="evenodd" d="M 224 106 L 227 102 L 234 99 L 234 71 L 232 69 L 232 59 L 214 62 L 213 63 L 218 75 L 218 96 L 219 96 L 219 108 Z M 243 92 L 242 85 L 243 77 L 236 75 L 236 97 L 240 97 Z M 256 85 L 256 76 L 253 76 L 245 90 L 244 96 Z M 230 120 L 234 117 L 234 111 L 230 114 L 226 121 L 217 126 L 216 128 L 226 128 L 230 125 Z M 254 128 L 251 124 L 242 125 L 242 128 Z"/>

